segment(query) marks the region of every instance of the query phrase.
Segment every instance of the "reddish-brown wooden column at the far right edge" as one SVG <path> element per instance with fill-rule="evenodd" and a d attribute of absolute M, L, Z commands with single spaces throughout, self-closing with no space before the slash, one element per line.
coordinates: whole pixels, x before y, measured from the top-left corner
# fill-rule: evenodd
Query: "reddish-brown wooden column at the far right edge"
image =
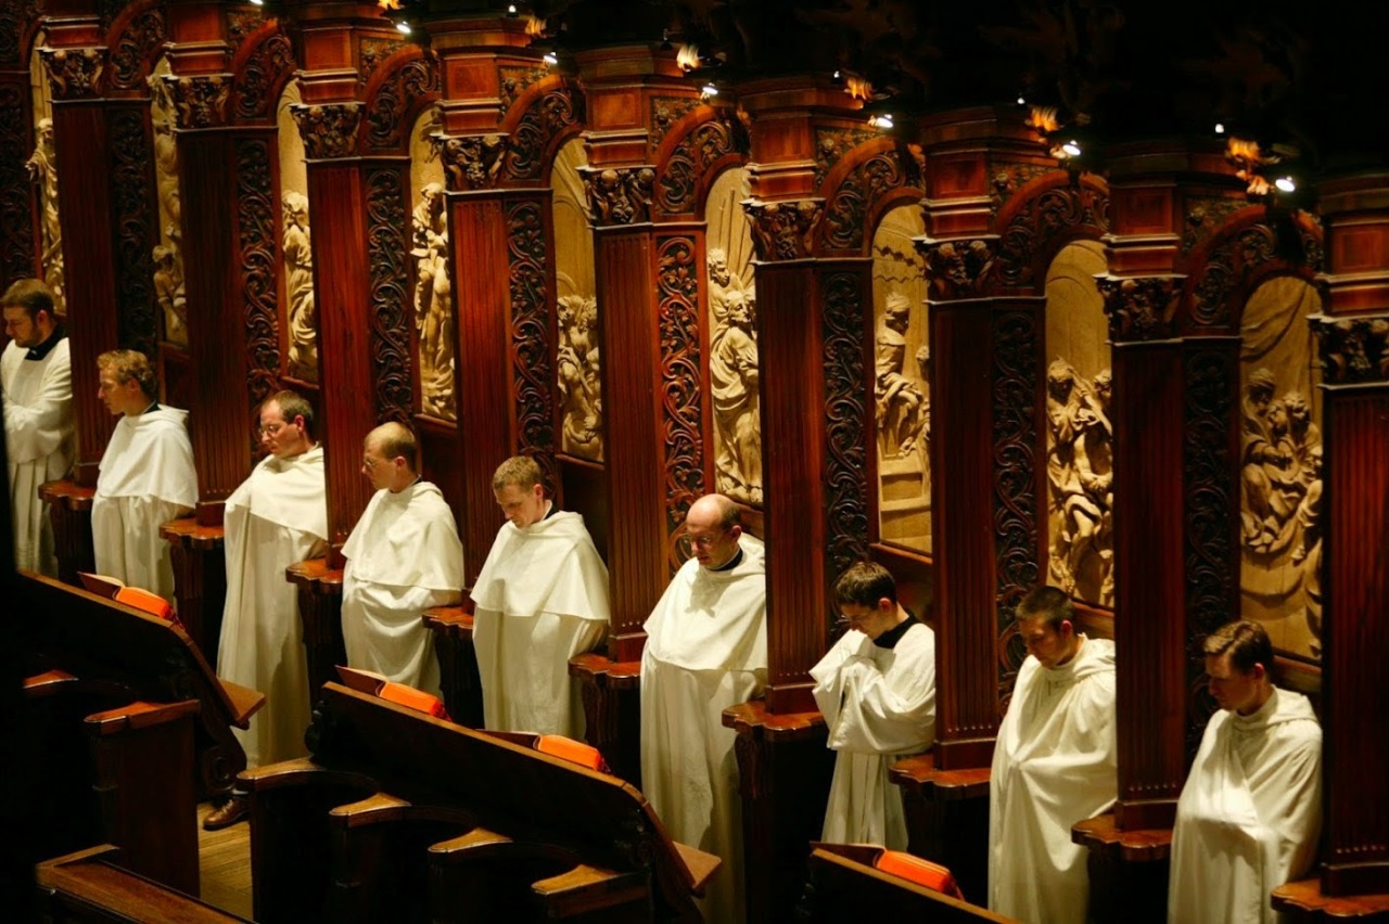
<path fill-rule="evenodd" d="M 1389 175 L 1320 186 L 1326 314 L 1313 318 L 1322 365 L 1322 627 L 1325 735 L 1320 882 L 1275 891 L 1314 920 L 1389 912 L 1389 709 L 1375 652 L 1389 645 Z M 1356 899 L 1356 896 L 1360 896 Z M 1351 907 L 1356 899 L 1360 907 Z"/>

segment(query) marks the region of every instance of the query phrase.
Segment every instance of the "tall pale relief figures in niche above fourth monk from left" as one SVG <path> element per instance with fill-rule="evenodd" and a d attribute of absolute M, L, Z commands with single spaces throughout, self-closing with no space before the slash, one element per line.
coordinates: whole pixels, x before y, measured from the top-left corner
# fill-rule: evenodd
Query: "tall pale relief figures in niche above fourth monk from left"
<path fill-rule="evenodd" d="M 411 218 L 415 258 L 415 330 L 419 334 L 419 404 L 425 413 L 457 420 L 453 394 L 454 337 L 449 300 L 449 226 L 443 186 L 425 183 Z"/>

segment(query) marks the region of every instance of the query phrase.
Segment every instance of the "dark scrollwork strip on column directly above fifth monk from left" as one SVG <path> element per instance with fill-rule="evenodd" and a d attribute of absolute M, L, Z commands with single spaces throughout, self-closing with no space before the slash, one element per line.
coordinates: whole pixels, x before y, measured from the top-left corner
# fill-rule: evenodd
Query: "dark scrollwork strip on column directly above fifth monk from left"
<path fill-rule="evenodd" d="M 550 368 L 550 301 L 544 214 L 535 200 L 507 204 L 511 283 L 511 375 L 517 450 L 533 454 L 554 484 L 554 372 Z"/>

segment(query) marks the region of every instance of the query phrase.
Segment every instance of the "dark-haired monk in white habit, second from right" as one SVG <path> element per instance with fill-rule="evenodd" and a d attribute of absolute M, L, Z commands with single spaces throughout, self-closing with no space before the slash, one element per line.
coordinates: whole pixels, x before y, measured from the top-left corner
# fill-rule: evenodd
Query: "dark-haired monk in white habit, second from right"
<path fill-rule="evenodd" d="M 1114 642 L 1078 633 L 1071 599 L 1056 587 L 1022 598 L 1017 631 L 1028 658 L 993 745 L 989 910 L 1082 924 L 1088 853 L 1071 842 L 1071 825 L 1118 796 Z"/>

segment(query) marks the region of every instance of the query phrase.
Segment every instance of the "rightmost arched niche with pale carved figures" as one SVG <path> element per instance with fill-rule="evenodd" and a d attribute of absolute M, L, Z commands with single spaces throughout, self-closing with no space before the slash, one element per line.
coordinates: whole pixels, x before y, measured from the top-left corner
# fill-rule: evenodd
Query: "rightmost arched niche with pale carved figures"
<path fill-rule="evenodd" d="M 1263 283 L 1245 302 L 1239 358 L 1240 615 L 1274 648 L 1321 659 L 1321 393 L 1303 279 Z"/>

